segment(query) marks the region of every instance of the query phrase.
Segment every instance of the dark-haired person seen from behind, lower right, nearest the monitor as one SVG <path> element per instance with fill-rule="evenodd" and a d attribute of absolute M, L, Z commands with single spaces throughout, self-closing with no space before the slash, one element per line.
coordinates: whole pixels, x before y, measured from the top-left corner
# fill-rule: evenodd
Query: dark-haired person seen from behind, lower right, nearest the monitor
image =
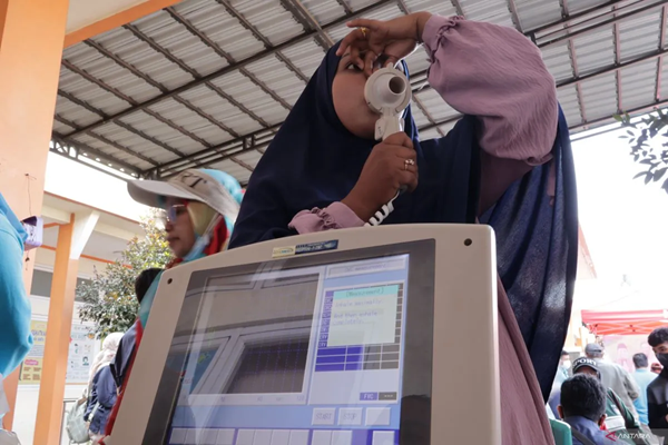
<path fill-rule="evenodd" d="M 601 431 L 606 422 L 606 388 L 598 378 L 576 374 L 563 382 L 558 411 L 559 416 L 571 427 L 573 445 L 618 444 Z"/>

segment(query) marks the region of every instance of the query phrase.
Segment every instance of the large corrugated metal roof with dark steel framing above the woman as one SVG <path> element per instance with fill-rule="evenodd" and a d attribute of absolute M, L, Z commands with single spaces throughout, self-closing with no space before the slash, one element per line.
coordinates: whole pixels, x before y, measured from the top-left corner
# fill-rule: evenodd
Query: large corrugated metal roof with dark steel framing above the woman
<path fill-rule="evenodd" d="M 122 177 L 242 185 L 346 21 L 416 11 L 508 26 L 541 50 L 571 131 L 668 103 L 668 0 L 184 0 L 66 48 L 51 151 Z M 407 58 L 422 139 L 460 119 Z"/>

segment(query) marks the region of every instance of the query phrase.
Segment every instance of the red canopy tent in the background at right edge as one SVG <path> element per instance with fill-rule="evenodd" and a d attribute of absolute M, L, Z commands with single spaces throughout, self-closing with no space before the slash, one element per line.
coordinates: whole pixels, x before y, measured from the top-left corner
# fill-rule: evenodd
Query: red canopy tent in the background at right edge
<path fill-rule="evenodd" d="M 668 309 L 582 310 L 582 323 L 596 335 L 649 334 L 657 327 L 668 326 Z"/>

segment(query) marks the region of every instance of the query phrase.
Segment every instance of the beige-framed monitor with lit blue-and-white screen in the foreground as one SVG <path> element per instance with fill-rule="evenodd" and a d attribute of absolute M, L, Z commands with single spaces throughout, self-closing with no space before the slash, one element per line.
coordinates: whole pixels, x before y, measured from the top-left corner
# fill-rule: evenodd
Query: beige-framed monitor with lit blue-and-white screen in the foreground
<path fill-rule="evenodd" d="M 500 444 L 493 233 L 335 230 L 166 271 L 111 444 Z"/>

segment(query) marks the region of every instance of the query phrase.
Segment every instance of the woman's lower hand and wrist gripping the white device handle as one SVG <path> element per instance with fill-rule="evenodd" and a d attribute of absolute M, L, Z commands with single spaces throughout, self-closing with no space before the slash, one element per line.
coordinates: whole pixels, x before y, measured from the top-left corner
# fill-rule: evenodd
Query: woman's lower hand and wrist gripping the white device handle
<path fill-rule="evenodd" d="M 415 158 L 413 141 L 405 132 L 390 136 L 373 148 L 357 184 L 342 202 L 348 206 L 360 219 L 369 220 L 383 205 L 394 198 L 401 187 L 406 186 L 409 191 L 418 187 Z"/>

